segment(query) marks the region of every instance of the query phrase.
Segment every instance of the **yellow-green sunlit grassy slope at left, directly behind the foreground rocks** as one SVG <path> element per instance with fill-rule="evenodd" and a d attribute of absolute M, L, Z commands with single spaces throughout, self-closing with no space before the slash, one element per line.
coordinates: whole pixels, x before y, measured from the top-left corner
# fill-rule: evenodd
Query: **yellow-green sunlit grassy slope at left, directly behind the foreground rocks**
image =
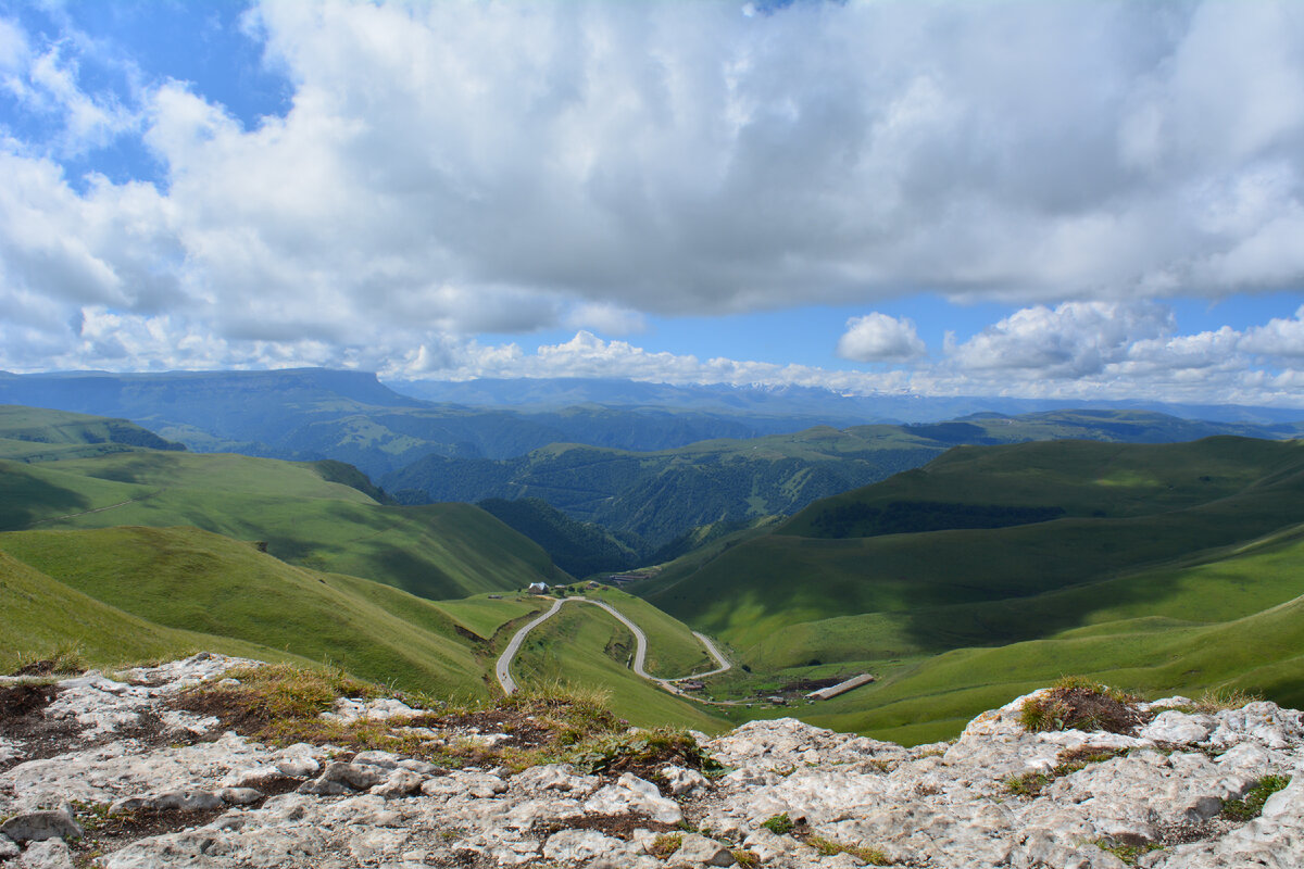
<path fill-rule="evenodd" d="M 193 634 L 226 637 L 246 650 L 329 662 L 407 689 L 488 692 L 488 653 L 459 637 L 454 619 L 437 605 L 357 577 L 289 565 L 216 534 L 193 528 L 14 532 L 0 534 L 0 550 L 10 563 L 53 577 L 78 597 L 94 597 L 130 624 L 150 625 L 104 624 L 89 629 L 83 642 L 103 644 L 119 633 L 143 642 L 158 634 L 142 650 L 142 657 L 158 657 L 184 631 L 190 632 L 188 648 L 198 645 Z M 4 648 L 31 645 L 16 638 Z"/>

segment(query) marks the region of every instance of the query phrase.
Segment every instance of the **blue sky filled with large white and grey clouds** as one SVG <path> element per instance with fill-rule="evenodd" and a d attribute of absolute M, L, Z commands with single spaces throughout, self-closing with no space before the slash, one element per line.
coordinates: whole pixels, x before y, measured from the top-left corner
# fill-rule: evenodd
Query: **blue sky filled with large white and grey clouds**
<path fill-rule="evenodd" d="M 1304 4 L 0 0 L 0 369 L 1304 406 Z"/>

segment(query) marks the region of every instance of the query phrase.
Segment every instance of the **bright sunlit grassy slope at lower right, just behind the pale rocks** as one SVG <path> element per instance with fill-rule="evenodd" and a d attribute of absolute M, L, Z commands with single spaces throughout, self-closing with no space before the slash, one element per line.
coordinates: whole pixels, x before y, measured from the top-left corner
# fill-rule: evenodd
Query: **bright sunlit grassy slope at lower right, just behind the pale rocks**
<path fill-rule="evenodd" d="M 927 741 L 949 736 L 994 701 L 1064 674 L 1084 674 L 1157 697 L 1239 688 L 1282 705 L 1304 704 L 1304 526 L 1209 564 L 1129 577 L 1090 625 L 988 649 L 957 649 L 889 672 L 861 697 L 822 705 L 810 720 L 840 730 Z M 1033 611 L 1123 590 L 1084 589 Z"/>

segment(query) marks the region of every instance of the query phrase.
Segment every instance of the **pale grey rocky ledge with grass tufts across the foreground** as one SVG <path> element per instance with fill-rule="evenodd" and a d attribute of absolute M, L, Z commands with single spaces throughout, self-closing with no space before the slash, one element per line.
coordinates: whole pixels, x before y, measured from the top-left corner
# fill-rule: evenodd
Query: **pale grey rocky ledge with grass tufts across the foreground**
<path fill-rule="evenodd" d="M 1029 734 L 1020 700 L 911 749 L 752 722 L 699 736 L 724 765 L 711 778 L 592 775 L 275 748 L 179 707 L 186 688 L 249 663 L 203 654 L 120 680 L 0 680 L 0 865 L 1304 866 L 1304 722 L 1269 702 L 1197 714 L 1171 698 L 1134 705 L 1132 734 Z M 329 714 L 383 726 L 415 713 L 340 700 Z M 468 722 L 403 730 L 441 745 L 519 737 Z"/>

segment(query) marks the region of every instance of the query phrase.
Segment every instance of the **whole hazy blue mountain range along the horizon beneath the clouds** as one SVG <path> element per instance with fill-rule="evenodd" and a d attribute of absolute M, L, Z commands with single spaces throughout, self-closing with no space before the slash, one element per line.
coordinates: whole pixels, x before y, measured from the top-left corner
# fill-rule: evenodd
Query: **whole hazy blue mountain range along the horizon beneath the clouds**
<path fill-rule="evenodd" d="M 391 386 L 374 374 L 326 369 L 0 373 L 0 403 L 121 417 L 197 452 L 333 459 L 373 479 L 426 456 L 516 459 L 562 443 L 664 451 L 822 425 L 850 429 L 893 420 L 932 425 L 979 413 L 1054 412 L 1069 404 L 1000 397 L 848 397 L 805 387 L 674 387 L 610 379 Z M 1258 429 L 1240 433 L 1279 438 L 1290 436 L 1291 423 L 1304 418 L 1304 410 L 1178 408 L 1171 416 L 1254 425 Z M 943 430 L 927 439 L 973 443 Z M 479 495 L 486 496 L 493 495 Z"/>

